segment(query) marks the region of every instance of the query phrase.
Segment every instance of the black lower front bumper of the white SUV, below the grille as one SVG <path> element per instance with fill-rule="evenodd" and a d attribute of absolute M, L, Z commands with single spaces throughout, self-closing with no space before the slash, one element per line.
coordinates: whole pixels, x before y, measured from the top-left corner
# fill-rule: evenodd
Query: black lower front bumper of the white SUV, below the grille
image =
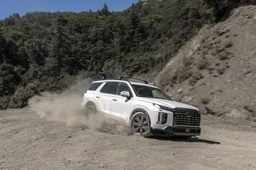
<path fill-rule="evenodd" d="M 153 135 L 165 136 L 199 136 L 201 133 L 200 127 L 184 127 L 184 126 L 166 126 L 162 129 L 151 128 Z"/>

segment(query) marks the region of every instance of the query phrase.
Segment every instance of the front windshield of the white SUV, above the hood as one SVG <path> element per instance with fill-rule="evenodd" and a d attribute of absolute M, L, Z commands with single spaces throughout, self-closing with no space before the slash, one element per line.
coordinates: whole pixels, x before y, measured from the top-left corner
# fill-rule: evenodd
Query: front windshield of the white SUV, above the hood
<path fill-rule="evenodd" d="M 132 85 L 138 97 L 162 98 L 172 100 L 163 90 L 146 85 Z"/>

